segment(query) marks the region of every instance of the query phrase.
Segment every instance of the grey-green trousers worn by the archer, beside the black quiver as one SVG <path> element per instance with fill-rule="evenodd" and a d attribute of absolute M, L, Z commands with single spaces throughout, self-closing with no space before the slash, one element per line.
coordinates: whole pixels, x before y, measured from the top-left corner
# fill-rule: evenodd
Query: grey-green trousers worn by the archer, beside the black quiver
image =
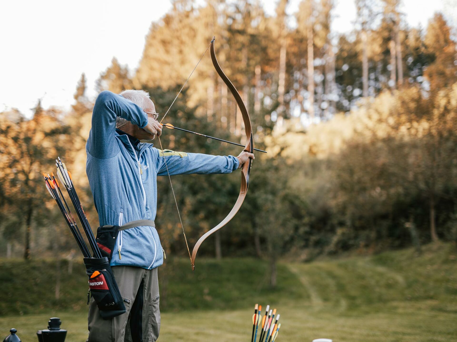
<path fill-rule="evenodd" d="M 104 320 L 90 298 L 89 342 L 154 342 L 159 337 L 159 282 L 157 268 L 113 266 L 126 313 Z"/>

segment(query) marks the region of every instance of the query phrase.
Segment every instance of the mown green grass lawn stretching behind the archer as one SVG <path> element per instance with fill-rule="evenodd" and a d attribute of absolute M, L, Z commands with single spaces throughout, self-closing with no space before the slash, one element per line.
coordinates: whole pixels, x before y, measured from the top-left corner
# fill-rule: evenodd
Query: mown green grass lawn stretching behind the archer
<path fill-rule="evenodd" d="M 264 287 L 262 272 L 246 275 L 246 268 L 254 264 L 256 269 L 264 270 L 266 265 L 258 260 L 200 259 L 201 273 L 192 275 L 187 271 L 181 274 L 181 280 L 175 278 L 180 272 L 167 274 L 167 284 L 173 286 L 166 286 L 159 341 L 250 341 L 256 302 L 264 308 L 270 304 L 281 314 L 278 342 L 318 337 L 335 342 L 455 341 L 456 255 L 455 246 L 433 244 L 425 246 L 419 257 L 405 249 L 372 257 L 281 263 L 280 290 L 274 292 Z M 186 260 L 174 263 L 176 270 L 180 270 L 181 263 L 182 267 L 188 266 Z M 206 273 L 216 265 L 219 271 L 215 275 Z M 223 275 L 225 272 L 228 274 Z M 202 303 L 192 310 L 197 298 Z M 173 303 L 179 303 L 183 310 Z M 66 341 L 82 342 L 87 338 L 85 307 L 35 310 L 12 300 L 10 304 L 27 307 L 31 313 L 1 316 L 0 335 L 16 327 L 22 341 L 36 341 L 35 332 L 46 327 L 49 317 L 58 316 L 68 330 Z"/>

